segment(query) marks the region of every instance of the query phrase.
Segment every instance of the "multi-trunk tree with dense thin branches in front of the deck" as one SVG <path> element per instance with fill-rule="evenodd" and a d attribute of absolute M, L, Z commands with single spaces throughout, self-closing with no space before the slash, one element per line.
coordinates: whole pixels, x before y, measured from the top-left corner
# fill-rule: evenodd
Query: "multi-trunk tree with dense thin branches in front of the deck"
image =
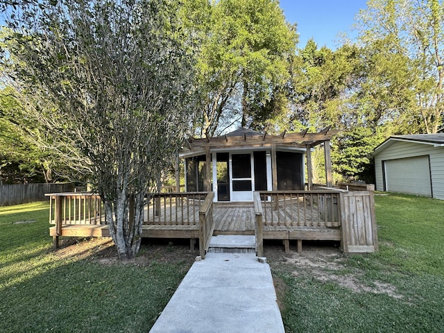
<path fill-rule="evenodd" d="M 91 173 L 120 258 L 139 250 L 144 203 L 194 117 L 193 58 L 177 12 L 162 0 L 24 1 L 10 10 L 8 74 L 51 153 Z"/>

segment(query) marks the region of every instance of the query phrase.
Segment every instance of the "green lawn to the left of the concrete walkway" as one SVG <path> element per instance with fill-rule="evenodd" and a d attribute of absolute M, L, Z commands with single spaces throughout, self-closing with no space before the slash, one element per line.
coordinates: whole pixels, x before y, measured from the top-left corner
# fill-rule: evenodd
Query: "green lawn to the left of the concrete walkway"
<path fill-rule="evenodd" d="M 148 332 L 191 262 L 60 255 L 48 216 L 47 203 L 0 207 L 0 332 Z"/>

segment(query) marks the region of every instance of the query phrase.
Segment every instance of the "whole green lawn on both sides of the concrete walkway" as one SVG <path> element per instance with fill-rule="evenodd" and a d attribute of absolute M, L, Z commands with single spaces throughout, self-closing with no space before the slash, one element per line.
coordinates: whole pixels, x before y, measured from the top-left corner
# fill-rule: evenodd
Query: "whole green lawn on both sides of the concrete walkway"
<path fill-rule="evenodd" d="M 286 286 L 287 332 L 443 332 L 444 201 L 375 203 L 378 253 L 337 253 L 316 267 L 268 259 Z M 0 333 L 148 332 L 191 265 L 162 260 L 176 244 L 146 264 L 103 264 L 101 248 L 60 255 L 48 214 L 46 203 L 0 207 Z"/>

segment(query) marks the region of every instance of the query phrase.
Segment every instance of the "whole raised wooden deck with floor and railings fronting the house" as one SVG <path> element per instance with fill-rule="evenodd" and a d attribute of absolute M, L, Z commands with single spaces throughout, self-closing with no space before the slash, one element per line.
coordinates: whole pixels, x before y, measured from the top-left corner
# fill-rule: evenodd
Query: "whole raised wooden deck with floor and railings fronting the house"
<path fill-rule="evenodd" d="M 211 198 L 210 198 L 211 197 Z M 290 240 L 341 241 L 345 252 L 377 250 L 373 191 L 259 191 L 250 203 L 213 203 L 214 193 L 155 194 L 146 203 L 142 237 L 196 239 L 205 247 L 213 234 Z M 92 194 L 51 194 L 49 223 L 58 237 L 110 237 L 103 203 Z M 203 236 L 205 234 L 205 236 Z M 203 246 L 200 246 L 203 248 Z M 204 251 L 205 253 L 205 251 Z"/>

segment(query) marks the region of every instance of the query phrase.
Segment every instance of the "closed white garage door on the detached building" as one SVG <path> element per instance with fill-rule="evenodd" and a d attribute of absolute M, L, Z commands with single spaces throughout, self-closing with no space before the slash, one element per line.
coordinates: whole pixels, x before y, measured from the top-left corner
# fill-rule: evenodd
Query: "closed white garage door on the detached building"
<path fill-rule="evenodd" d="M 384 161 L 386 190 L 420 196 L 432 196 L 429 157 Z"/>

